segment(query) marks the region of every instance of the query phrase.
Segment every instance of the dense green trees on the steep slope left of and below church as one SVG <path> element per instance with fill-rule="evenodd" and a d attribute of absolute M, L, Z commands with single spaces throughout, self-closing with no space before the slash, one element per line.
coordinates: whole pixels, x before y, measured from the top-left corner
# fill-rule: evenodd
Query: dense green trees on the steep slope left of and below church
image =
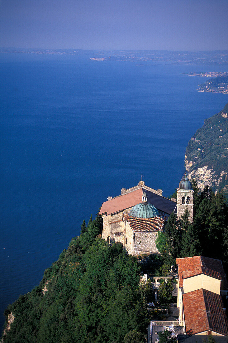
<path fill-rule="evenodd" d="M 5 343 L 123 342 L 133 329 L 142 340 L 148 321 L 139 263 L 101 238 L 100 219 L 82 225 L 39 286 L 8 306 L 5 316 L 15 319 Z"/>

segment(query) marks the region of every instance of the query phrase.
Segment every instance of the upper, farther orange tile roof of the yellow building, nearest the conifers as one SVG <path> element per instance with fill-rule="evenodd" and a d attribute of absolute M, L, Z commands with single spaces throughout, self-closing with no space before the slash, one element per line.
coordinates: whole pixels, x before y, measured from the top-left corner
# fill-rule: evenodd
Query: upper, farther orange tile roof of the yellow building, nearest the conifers
<path fill-rule="evenodd" d="M 205 274 L 218 280 L 224 280 L 225 273 L 221 260 L 203 256 L 177 258 L 179 285 L 183 287 L 183 279 Z"/>

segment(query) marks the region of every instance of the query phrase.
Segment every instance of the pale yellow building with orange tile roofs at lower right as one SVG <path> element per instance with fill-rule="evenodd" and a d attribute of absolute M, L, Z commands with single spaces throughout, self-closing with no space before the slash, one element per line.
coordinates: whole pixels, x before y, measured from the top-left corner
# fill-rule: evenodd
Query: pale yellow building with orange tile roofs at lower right
<path fill-rule="evenodd" d="M 221 260 L 203 256 L 178 258 L 179 324 L 187 334 L 227 336 L 221 291 L 227 289 Z"/>

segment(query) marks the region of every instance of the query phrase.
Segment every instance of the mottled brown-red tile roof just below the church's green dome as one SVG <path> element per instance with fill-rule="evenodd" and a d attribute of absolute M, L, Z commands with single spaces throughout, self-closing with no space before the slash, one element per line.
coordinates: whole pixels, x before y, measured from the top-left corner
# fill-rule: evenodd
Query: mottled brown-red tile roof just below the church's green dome
<path fill-rule="evenodd" d="M 123 220 L 126 220 L 133 232 L 163 231 L 165 220 L 161 217 L 137 218 L 123 213 Z"/>

